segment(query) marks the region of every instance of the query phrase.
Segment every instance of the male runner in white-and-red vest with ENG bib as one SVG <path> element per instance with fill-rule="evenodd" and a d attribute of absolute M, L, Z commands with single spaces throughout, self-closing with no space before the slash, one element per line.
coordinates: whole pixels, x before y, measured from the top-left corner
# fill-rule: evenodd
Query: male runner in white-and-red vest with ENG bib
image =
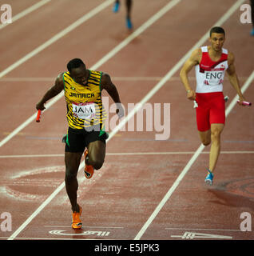
<path fill-rule="evenodd" d="M 241 93 L 239 80 L 234 66 L 234 55 L 223 47 L 224 29 L 216 26 L 210 30 L 211 46 L 204 46 L 192 52 L 181 69 L 181 81 L 187 91 L 189 100 L 196 100 L 196 124 L 200 140 L 204 146 L 211 142 L 209 168 L 205 182 L 212 185 L 216 162 L 220 154 L 220 134 L 224 129 L 225 106 L 223 95 L 224 74 L 227 71 L 229 82 L 239 95 L 241 106 L 245 101 Z M 195 66 L 196 91 L 189 85 L 188 74 Z"/>

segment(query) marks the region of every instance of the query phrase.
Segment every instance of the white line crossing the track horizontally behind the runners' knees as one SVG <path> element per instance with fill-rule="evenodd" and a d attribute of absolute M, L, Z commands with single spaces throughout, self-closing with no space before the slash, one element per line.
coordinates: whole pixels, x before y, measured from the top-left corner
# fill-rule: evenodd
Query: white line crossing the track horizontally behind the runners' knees
<path fill-rule="evenodd" d="M 170 154 L 194 154 L 195 151 L 169 151 L 169 152 L 122 152 L 106 153 L 109 156 L 140 156 L 140 155 L 170 155 Z M 203 151 L 200 154 L 210 154 L 209 151 Z M 254 154 L 254 151 L 220 151 L 220 154 Z M 62 158 L 65 154 L 6 154 L 0 155 L 0 158 Z"/>

